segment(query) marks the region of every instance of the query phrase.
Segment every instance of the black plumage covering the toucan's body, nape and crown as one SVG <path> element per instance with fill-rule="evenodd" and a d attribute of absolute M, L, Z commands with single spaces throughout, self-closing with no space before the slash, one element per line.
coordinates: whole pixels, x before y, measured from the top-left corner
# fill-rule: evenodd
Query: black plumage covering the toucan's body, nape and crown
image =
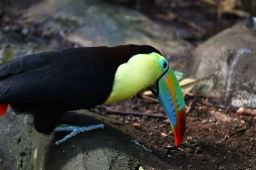
<path fill-rule="evenodd" d="M 0 65 L 0 103 L 31 114 L 50 133 L 67 111 L 94 108 L 111 94 L 117 68 L 149 45 L 81 47 L 32 54 Z"/>

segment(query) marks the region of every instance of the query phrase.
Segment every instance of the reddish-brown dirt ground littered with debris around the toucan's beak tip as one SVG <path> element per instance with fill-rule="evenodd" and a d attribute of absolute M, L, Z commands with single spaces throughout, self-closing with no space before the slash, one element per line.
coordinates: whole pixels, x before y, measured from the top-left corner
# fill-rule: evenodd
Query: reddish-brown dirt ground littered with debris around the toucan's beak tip
<path fill-rule="evenodd" d="M 185 139 L 178 149 L 172 147 L 174 135 L 169 122 L 164 118 L 111 114 L 106 110 L 102 114 L 143 132 L 132 133 L 131 136 L 170 164 L 193 170 L 256 169 L 256 117 L 239 116 L 231 109 L 221 109 L 211 99 L 203 96 L 186 96 L 185 100 L 190 109 L 187 113 Z M 159 103 L 140 95 L 109 106 L 115 111 L 165 116 Z M 212 116 L 214 111 L 228 116 L 230 121 L 224 122 Z M 124 131 L 131 132 L 127 129 Z M 174 160 L 172 156 L 179 159 Z"/>

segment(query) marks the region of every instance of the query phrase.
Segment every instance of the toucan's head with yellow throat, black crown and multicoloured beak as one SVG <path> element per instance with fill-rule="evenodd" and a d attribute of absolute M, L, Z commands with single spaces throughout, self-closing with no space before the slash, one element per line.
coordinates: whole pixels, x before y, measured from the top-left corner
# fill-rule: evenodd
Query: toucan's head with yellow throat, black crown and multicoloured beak
<path fill-rule="evenodd" d="M 133 54 L 128 62 L 119 65 L 113 91 L 106 104 L 127 99 L 142 89 L 149 88 L 166 112 L 178 146 L 186 130 L 186 111 L 174 71 L 157 49 L 147 45 L 132 47 L 131 50 L 126 49 L 125 53 L 120 52 L 123 55 Z"/>

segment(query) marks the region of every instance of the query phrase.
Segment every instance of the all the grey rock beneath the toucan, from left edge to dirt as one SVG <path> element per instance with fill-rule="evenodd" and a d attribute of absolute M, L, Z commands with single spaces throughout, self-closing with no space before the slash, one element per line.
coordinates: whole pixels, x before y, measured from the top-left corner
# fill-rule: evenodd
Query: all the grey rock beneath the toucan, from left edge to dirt
<path fill-rule="evenodd" d="M 97 118 L 96 118 L 97 117 Z M 129 128 L 105 116 L 79 111 L 66 113 L 62 123 L 103 123 L 106 130 L 81 133 L 58 146 L 67 133 L 42 135 L 23 117 L 6 113 L 0 119 L 0 167 L 8 170 L 145 170 L 180 169 L 163 162 L 119 128 Z M 177 158 L 175 158 L 177 159 Z"/>

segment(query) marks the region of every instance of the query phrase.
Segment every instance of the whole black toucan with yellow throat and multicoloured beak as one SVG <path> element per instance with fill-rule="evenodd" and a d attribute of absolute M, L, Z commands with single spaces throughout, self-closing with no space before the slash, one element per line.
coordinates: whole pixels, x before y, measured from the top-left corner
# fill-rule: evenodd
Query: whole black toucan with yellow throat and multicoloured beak
<path fill-rule="evenodd" d="M 167 59 L 151 45 L 77 47 L 9 60 L 0 65 L 0 116 L 11 108 L 32 116 L 40 133 L 70 131 L 58 145 L 104 127 L 60 125 L 65 112 L 122 101 L 145 88 L 159 100 L 180 145 L 186 130 L 182 90 Z"/>

